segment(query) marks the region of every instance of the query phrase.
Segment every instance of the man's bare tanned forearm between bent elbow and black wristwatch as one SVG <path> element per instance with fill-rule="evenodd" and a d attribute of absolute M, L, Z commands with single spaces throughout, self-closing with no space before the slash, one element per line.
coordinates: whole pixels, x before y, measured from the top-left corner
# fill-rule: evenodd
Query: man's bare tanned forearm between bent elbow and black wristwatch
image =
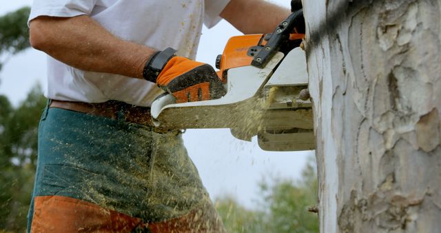
<path fill-rule="evenodd" d="M 83 15 L 38 17 L 30 22 L 30 42 L 37 50 L 81 70 L 143 78 L 152 48 L 124 41 Z"/>

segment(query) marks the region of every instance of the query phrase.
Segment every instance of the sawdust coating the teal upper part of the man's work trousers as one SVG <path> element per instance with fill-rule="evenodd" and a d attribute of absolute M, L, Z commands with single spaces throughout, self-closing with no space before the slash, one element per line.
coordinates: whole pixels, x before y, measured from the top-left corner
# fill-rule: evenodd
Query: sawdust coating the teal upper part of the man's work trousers
<path fill-rule="evenodd" d="M 174 219 L 203 205 L 207 209 L 203 211 L 212 214 L 196 217 L 201 227 L 205 225 L 201 229 L 209 229 L 212 221 L 222 225 L 187 156 L 180 131 L 156 133 L 143 125 L 103 123 L 102 119 L 90 124 L 75 117 L 56 116 L 59 124 L 70 126 L 54 124 L 54 129 L 61 129 L 59 134 L 48 134 L 50 154 L 59 158 L 54 161 L 57 164 L 44 165 L 43 176 L 57 195 L 145 223 Z"/>

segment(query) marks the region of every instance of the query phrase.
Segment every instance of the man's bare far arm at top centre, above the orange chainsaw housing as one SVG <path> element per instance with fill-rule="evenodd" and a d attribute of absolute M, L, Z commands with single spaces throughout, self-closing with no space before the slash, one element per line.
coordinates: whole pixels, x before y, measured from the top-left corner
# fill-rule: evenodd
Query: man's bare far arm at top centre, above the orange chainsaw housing
<path fill-rule="evenodd" d="M 220 17 L 243 34 L 270 33 L 291 12 L 263 0 L 231 0 Z"/>

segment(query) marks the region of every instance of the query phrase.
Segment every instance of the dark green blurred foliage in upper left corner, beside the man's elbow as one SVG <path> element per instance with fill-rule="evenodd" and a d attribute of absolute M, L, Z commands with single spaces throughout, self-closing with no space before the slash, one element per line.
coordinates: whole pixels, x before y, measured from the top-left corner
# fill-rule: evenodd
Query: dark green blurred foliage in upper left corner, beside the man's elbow
<path fill-rule="evenodd" d="M 29 14 L 30 8 L 24 7 L 0 17 L 0 55 L 17 54 L 30 46 L 27 25 Z"/>

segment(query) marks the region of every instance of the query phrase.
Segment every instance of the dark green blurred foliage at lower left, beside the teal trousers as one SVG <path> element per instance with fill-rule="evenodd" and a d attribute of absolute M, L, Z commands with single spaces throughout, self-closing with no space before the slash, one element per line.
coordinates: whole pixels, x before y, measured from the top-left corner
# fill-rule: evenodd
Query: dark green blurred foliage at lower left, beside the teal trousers
<path fill-rule="evenodd" d="M 39 85 L 13 108 L 0 96 L 0 231 L 23 232 L 37 158 L 37 127 L 45 97 Z"/>

